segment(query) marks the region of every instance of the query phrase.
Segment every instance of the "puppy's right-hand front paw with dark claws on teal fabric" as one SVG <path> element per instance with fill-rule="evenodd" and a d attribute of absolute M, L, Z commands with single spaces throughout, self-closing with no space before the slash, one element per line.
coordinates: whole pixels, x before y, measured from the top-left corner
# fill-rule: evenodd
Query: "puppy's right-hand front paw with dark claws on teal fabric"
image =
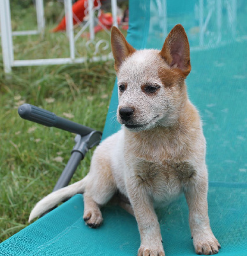
<path fill-rule="evenodd" d="M 193 244 L 197 254 L 212 255 L 219 252 L 221 248 L 218 240 L 210 232 L 199 232 L 193 237 Z"/>

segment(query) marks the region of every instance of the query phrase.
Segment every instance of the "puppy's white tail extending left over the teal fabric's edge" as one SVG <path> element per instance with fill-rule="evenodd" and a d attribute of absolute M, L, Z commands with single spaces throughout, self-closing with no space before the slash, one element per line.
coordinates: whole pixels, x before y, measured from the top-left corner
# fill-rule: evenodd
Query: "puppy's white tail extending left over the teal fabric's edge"
<path fill-rule="evenodd" d="M 38 202 L 34 206 L 33 210 L 30 213 L 28 221 L 30 222 L 34 218 L 41 216 L 43 213 L 49 211 L 57 204 L 63 202 L 71 196 L 78 193 L 84 193 L 86 187 L 86 179 L 87 176 L 84 179 L 75 182 L 68 187 L 58 189 L 57 191 L 54 191 L 49 195 L 45 196 L 43 199 L 40 200 L 40 202 Z"/>

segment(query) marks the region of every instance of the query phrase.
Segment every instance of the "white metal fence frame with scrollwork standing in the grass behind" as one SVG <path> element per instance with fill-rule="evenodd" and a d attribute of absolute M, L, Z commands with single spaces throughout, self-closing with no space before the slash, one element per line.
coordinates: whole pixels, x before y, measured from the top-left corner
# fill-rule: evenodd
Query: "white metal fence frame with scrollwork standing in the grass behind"
<path fill-rule="evenodd" d="M 88 0 L 89 12 L 89 31 L 90 39 L 94 40 L 94 1 Z M 111 0 L 112 16 L 114 26 L 117 26 L 117 1 Z M 70 57 L 69 58 L 52 58 L 52 59 L 38 59 L 38 60 L 14 60 L 13 54 L 13 35 L 34 35 L 36 33 L 43 33 L 45 28 L 45 19 L 43 12 L 43 0 L 36 0 L 36 12 L 38 20 L 38 31 L 15 31 L 11 29 L 10 16 L 10 0 L 0 0 L 0 23 L 1 23 L 1 42 L 3 50 L 4 72 L 10 73 L 11 67 L 33 66 L 33 65 L 59 65 L 67 63 L 83 63 L 88 60 L 87 57 L 75 58 L 75 37 L 73 31 L 73 12 L 71 0 L 64 0 L 64 10 L 66 13 L 66 31 L 70 42 Z M 101 42 L 99 42 L 101 43 Z M 98 47 L 99 44 L 96 44 Z M 94 52 L 96 53 L 96 51 Z M 89 61 L 109 60 L 112 54 L 103 56 L 93 56 Z"/>

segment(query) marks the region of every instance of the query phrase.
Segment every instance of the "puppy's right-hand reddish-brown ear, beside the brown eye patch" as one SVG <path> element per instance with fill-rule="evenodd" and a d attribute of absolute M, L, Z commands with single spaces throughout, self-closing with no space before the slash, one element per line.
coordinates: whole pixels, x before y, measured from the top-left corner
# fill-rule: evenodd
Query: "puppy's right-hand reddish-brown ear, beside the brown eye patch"
<path fill-rule="evenodd" d="M 190 45 L 184 28 L 177 24 L 168 34 L 160 51 L 162 58 L 172 68 L 179 68 L 186 77 L 190 73 Z"/>

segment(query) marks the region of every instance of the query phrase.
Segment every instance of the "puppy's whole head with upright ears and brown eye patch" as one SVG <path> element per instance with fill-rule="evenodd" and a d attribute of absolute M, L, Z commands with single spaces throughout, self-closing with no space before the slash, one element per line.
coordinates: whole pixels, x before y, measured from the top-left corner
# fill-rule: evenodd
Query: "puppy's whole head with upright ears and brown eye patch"
<path fill-rule="evenodd" d="M 112 52 L 117 72 L 117 120 L 130 131 L 176 124 L 187 100 L 184 79 L 190 73 L 190 46 L 183 26 L 168 34 L 161 51 L 136 51 L 116 27 Z"/>

